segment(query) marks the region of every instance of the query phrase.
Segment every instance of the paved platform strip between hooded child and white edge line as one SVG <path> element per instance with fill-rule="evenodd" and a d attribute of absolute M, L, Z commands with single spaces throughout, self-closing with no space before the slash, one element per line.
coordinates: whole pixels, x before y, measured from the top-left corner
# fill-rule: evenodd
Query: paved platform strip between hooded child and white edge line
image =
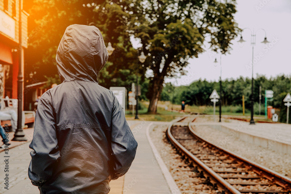
<path fill-rule="evenodd" d="M 110 182 L 111 191 L 109 194 L 172 193 L 167 182 L 168 180 L 165 178 L 159 164 L 156 162 L 157 160 L 154 152 L 147 139 L 146 131 L 151 127 L 151 123 L 162 122 L 128 121 L 138 143 L 136 157 L 129 171 L 124 177 L 120 177 L 124 179 L 123 184 L 120 184 L 120 180 L 118 180 L 120 178 Z"/>

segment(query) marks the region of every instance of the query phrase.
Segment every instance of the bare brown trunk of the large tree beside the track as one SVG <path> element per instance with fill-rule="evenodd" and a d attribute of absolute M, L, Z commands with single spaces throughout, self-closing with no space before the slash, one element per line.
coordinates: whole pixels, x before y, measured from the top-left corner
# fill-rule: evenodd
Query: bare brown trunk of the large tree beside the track
<path fill-rule="evenodd" d="M 157 104 L 159 97 L 163 90 L 164 76 L 158 75 L 150 82 L 149 86 L 149 96 L 150 96 L 150 105 L 148 106 L 148 113 L 156 114 L 157 113 Z"/>

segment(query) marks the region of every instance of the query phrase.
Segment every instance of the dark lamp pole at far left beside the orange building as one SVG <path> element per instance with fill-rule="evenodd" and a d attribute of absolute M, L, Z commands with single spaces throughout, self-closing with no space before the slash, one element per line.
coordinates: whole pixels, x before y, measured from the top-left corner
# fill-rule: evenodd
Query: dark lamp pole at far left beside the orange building
<path fill-rule="evenodd" d="M 17 76 L 17 129 L 15 131 L 14 137 L 12 141 L 26 141 L 25 134 L 22 129 L 22 84 L 23 84 L 23 76 L 22 76 L 22 0 L 19 0 L 19 49 L 18 49 L 18 76 Z"/>

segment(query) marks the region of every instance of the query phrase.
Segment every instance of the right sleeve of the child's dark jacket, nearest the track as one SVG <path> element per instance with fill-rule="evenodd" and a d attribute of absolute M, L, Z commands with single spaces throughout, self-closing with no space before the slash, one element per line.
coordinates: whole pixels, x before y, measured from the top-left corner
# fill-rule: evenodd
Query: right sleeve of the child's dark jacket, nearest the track
<path fill-rule="evenodd" d="M 123 176 L 129 169 L 136 153 L 137 142 L 125 120 L 125 115 L 114 96 L 112 112 L 111 148 L 113 151 L 113 177 Z"/>

